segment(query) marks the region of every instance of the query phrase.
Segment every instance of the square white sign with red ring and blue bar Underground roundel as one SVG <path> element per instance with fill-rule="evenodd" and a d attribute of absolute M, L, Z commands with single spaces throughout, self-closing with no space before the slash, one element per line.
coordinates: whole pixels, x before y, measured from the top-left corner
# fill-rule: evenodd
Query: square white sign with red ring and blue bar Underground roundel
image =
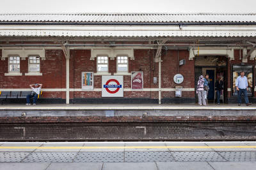
<path fill-rule="evenodd" d="M 124 97 L 124 77 L 102 76 L 102 97 Z"/>

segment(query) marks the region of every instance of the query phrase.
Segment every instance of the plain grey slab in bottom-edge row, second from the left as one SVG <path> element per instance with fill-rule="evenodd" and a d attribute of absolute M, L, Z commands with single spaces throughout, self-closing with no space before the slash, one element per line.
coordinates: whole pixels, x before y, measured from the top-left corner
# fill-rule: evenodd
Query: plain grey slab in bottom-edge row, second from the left
<path fill-rule="evenodd" d="M 45 170 L 101 170 L 102 163 L 51 163 Z"/>

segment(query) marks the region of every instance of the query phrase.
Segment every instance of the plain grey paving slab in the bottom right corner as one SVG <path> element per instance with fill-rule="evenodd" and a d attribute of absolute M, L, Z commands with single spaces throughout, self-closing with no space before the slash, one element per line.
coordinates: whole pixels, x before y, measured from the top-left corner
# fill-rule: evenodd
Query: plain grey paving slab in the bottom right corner
<path fill-rule="evenodd" d="M 255 169 L 256 162 L 209 162 L 215 170 L 251 170 Z"/>

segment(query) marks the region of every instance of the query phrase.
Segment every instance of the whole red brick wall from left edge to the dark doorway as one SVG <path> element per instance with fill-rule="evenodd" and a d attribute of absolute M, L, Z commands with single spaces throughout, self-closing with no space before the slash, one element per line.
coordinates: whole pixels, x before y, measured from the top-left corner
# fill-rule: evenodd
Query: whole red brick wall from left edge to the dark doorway
<path fill-rule="evenodd" d="M 1 52 L 0 52 L 1 54 Z M 90 50 L 70 50 L 70 88 L 81 89 L 81 72 L 97 72 L 97 59 L 90 60 Z M 144 89 L 158 88 L 159 64 L 154 62 L 156 50 L 134 50 L 134 60 L 129 59 L 129 72 L 143 71 Z M 173 76 L 177 74 L 177 50 L 168 50 L 162 53 L 161 71 L 162 88 L 175 88 Z M 179 60 L 185 59 L 186 64 L 179 67 L 179 73 L 184 76 L 180 85 L 184 88 L 194 87 L 194 60 L 188 60 L 187 50 L 179 51 Z M 45 50 L 45 59 L 40 61 L 43 76 L 25 76 L 28 73 L 28 58 L 20 61 L 22 76 L 4 76 L 8 73 L 8 59 L 0 60 L 0 89 L 27 89 L 29 84 L 39 82 L 44 84 L 44 89 L 66 88 L 66 59 L 62 50 Z M 116 59 L 109 59 L 109 72 L 116 73 Z M 157 83 L 153 83 L 154 76 Z M 94 88 L 101 89 L 101 76 L 94 76 Z M 124 76 L 124 88 L 131 89 L 131 76 Z M 163 97 L 175 97 L 174 92 L 162 92 Z M 182 92 L 182 97 L 194 97 L 194 92 Z M 43 97 L 65 99 L 65 92 L 44 92 Z M 101 92 L 70 92 L 70 99 L 80 97 L 101 97 Z M 125 91 L 124 97 L 145 97 L 158 99 L 158 92 Z"/>

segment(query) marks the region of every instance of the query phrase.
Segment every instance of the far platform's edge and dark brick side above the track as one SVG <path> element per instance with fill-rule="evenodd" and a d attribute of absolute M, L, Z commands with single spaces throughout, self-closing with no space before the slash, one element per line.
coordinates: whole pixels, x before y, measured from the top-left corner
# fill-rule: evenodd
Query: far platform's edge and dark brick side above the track
<path fill-rule="evenodd" d="M 256 104 L 4 104 L 0 141 L 255 140 Z"/>

